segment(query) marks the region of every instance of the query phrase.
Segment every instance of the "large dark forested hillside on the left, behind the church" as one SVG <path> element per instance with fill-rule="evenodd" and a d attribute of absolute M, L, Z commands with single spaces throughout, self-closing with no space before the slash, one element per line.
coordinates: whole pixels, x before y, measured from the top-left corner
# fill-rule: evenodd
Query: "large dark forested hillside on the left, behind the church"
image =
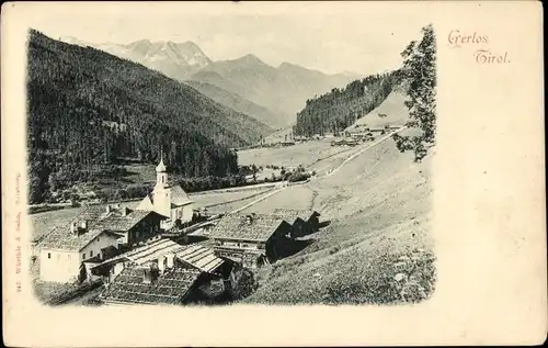
<path fill-rule="evenodd" d="M 160 72 L 31 31 L 27 58 L 30 202 L 55 187 L 109 176 L 121 157 L 186 177 L 237 172 L 230 147 L 266 125 Z"/>

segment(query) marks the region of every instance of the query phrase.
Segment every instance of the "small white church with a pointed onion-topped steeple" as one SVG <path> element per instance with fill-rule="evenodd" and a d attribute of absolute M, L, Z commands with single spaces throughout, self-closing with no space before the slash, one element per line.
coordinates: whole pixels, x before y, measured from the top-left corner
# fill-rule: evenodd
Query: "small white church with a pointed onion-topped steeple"
<path fill-rule="evenodd" d="M 182 224 L 192 221 L 194 202 L 180 184 L 169 183 L 163 156 L 161 156 L 160 164 L 156 167 L 155 189 L 142 199 L 137 210 L 153 211 L 168 217 L 160 226 L 163 229 L 170 229 L 178 221 Z"/>

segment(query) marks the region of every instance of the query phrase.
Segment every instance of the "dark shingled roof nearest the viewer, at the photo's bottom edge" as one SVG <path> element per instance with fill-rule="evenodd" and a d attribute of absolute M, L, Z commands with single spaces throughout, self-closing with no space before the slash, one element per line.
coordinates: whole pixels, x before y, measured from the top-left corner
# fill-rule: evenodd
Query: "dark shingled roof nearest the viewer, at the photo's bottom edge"
<path fill-rule="evenodd" d="M 178 304 L 189 293 L 201 272 L 182 268 L 167 269 L 150 284 L 144 283 L 146 267 L 126 267 L 103 291 L 104 301 L 139 304 Z"/>

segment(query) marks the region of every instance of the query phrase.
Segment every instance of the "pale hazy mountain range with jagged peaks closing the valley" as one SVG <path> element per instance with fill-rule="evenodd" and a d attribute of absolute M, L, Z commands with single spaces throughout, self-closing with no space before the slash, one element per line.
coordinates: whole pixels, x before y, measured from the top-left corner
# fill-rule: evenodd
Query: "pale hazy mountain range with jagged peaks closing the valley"
<path fill-rule="evenodd" d="M 361 78 L 353 72 L 328 75 L 289 63 L 273 67 L 252 54 L 213 60 L 192 42 L 141 40 L 130 44 L 92 44 L 75 37 L 61 41 L 139 63 L 274 128 L 295 123 L 297 112 L 309 98 Z"/>

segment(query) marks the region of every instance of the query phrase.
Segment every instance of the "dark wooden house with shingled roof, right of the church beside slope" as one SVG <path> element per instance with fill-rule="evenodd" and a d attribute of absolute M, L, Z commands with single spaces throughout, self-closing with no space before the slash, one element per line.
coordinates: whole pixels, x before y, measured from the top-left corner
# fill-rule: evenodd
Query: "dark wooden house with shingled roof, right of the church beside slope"
<path fill-rule="evenodd" d="M 292 225 L 278 215 L 227 214 L 209 233 L 219 257 L 256 268 L 284 256 Z"/>

